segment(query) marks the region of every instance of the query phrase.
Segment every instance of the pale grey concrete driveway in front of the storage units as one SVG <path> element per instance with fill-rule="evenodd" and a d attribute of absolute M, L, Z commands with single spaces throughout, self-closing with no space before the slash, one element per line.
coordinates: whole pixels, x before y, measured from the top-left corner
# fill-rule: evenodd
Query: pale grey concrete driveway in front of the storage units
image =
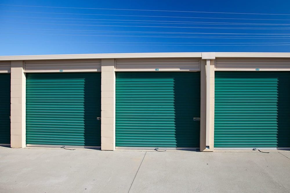
<path fill-rule="evenodd" d="M 0 191 L 290 192 L 290 151 L 269 152 L 0 147 Z"/>

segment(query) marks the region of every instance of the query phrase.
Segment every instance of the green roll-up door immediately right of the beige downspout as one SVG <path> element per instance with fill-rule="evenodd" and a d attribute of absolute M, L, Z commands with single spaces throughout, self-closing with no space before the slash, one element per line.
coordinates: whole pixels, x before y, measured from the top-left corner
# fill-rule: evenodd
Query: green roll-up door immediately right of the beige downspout
<path fill-rule="evenodd" d="M 290 72 L 215 72 L 214 147 L 290 147 Z"/>

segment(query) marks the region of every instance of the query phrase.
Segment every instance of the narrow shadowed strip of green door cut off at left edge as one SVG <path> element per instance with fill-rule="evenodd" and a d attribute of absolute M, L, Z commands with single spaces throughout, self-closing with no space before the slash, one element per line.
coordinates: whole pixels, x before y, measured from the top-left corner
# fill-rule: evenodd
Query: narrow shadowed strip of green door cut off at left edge
<path fill-rule="evenodd" d="M 0 144 L 10 144 L 10 73 L 1 73 L 0 82 Z"/>

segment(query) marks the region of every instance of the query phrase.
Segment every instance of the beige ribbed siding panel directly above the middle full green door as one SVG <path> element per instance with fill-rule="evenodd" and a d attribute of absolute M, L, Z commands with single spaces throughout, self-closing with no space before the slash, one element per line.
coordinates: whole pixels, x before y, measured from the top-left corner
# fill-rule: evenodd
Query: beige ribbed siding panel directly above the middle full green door
<path fill-rule="evenodd" d="M 200 71 L 199 58 L 116 59 L 116 71 Z"/>

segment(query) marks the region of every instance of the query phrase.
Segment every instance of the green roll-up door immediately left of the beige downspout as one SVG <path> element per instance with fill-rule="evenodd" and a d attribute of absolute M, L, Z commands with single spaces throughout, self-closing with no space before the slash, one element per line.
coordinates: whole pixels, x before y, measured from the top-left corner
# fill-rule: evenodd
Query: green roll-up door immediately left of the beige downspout
<path fill-rule="evenodd" d="M 199 72 L 117 72 L 117 147 L 199 147 Z"/>

